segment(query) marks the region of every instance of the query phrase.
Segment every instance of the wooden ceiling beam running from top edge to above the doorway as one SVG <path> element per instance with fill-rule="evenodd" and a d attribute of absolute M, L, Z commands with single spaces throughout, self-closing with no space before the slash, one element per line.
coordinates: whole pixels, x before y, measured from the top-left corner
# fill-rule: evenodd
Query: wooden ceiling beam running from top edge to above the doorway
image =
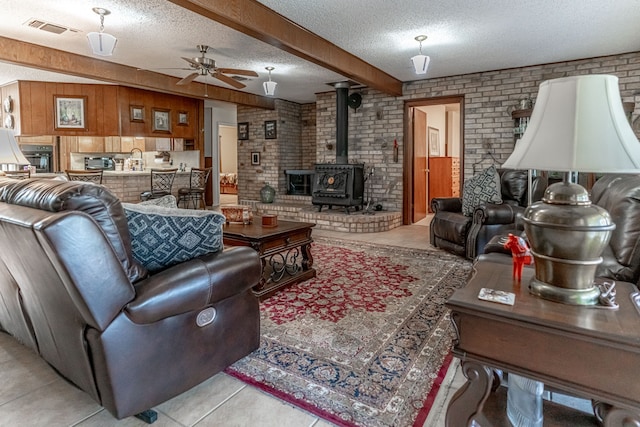
<path fill-rule="evenodd" d="M 255 0 L 168 0 L 391 96 L 402 82 Z"/>

